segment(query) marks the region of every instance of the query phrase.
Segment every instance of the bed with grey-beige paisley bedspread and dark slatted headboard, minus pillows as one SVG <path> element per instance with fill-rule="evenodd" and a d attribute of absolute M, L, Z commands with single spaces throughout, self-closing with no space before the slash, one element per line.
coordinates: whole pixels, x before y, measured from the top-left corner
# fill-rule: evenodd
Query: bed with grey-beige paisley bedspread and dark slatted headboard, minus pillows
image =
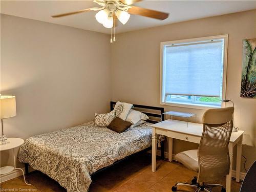
<path fill-rule="evenodd" d="M 111 111 L 115 102 L 111 102 Z M 152 144 L 150 125 L 161 120 L 163 108 L 136 105 L 149 119 L 139 126 L 118 134 L 106 127 L 95 127 L 94 122 L 84 123 L 51 133 L 28 138 L 20 146 L 18 160 L 56 180 L 68 192 L 89 190 L 91 175 L 131 156 L 149 150 Z M 151 113 L 148 110 L 160 113 Z M 159 118 L 159 120 L 156 120 Z M 163 144 L 164 136 L 158 137 Z M 162 145 L 163 150 L 163 145 Z"/>

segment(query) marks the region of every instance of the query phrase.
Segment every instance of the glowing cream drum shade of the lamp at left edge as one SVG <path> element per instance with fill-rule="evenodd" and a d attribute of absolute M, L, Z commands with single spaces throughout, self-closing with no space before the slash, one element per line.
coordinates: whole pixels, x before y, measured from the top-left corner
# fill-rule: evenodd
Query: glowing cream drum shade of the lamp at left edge
<path fill-rule="evenodd" d="M 15 96 L 0 95 L 0 119 L 16 116 Z"/>

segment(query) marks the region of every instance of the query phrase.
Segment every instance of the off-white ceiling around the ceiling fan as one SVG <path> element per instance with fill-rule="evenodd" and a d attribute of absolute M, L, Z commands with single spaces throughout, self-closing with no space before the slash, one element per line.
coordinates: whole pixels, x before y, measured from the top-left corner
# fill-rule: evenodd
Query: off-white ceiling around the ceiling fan
<path fill-rule="evenodd" d="M 256 1 L 143 1 L 134 5 L 167 12 L 169 17 L 161 21 L 131 15 L 125 25 L 119 23 L 116 33 L 256 9 Z M 97 6 L 92 1 L 1 1 L 1 13 L 79 29 L 110 33 L 110 29 L 104 28 L 96 21 L 96 12 L 94 11 L 61 18 L 51 17 L 54 14 Z"/>

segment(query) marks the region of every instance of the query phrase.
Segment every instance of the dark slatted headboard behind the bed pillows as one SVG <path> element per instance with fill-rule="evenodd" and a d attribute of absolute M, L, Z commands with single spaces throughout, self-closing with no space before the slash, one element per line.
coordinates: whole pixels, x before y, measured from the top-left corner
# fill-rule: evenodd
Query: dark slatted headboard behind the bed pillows
<path fill-rule="evenodd" d="M 116 102 L 110 101 L 110 111 L 114 110 Z M 160 122 L 162 119 L 162 113 L 164 113 L 164 108 L 160 108 L 158 106 L 147 106 L 147 105 L 141 105 L 141 104 L 133 104 L 134 108 L 138 109 L 146 109 L 147 111 L 143 110 L 137 110 L 144 114 L 146 114 L 150 119 L 147 120 L 147 122 L 150 123 L 157 123 Z M 151 112 L 152 111 L 152 112 Z M 154 119 L 151 119 L 151 117 L 154 117 Z"/>

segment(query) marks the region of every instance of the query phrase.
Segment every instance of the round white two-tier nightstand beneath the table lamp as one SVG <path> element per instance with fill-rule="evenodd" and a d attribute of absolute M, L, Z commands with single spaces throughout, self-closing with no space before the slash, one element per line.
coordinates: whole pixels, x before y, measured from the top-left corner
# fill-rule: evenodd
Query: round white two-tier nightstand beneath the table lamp
<path fill-rule="evenodd" d="M 23 143 L 24 143 L 23 139 L 20 139 L 20 138 L 8 138 L 8 143 L 0 145 L 0 151 L 1 152 L 2 151 L 6 151 L 6 150 L 12 150 L 13 160 L 14 160 L 14 166 L 4 166 L 4 167 L 1 167 L 0 168 L 0 174 L 4 175 L 4 174 L 8 174 L 8 173 L 12 172 L 15 169 L 20 169 L 20 170 L 22 170 L 22 173 L 23 173 L 24 182 L 27 185 L 31 185 L 31 184 L 26 182 L 23 169 L 22 168 L 16 168 L 16 156 L 15 156 L 14 149 L 16 147 L 22 145 Z"/>

